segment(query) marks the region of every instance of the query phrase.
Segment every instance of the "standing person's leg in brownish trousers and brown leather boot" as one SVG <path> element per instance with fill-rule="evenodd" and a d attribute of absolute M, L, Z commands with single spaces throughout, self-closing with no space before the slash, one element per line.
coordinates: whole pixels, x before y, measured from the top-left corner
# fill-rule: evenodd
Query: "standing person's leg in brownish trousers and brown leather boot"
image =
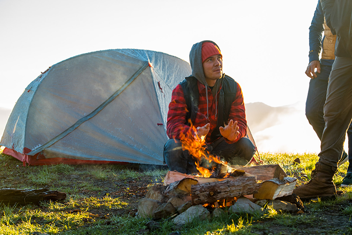
<path fill-rule="evenodd" d="M 300 197 L 336 192 L 332 177 L 343 152 L 346 131 L 352 119 L 352 58 L 336 57 L 332 65 L 324 106 L 325 129 L 319 162 L 312 179 L 293 192 Z"/>

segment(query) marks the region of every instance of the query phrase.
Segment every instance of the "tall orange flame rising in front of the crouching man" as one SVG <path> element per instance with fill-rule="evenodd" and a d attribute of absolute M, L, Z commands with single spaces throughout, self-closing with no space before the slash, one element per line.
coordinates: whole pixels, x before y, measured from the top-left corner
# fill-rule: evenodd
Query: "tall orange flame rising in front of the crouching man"
<path fill-rule="evenodd" d="M 227 164 L 226 162 L 223 162 L 220 160 L 219 156 L 212 155 L 209 153 L 209 151 L 206 150 L 206 143 L 205 143 L 205 136 L 199 137 L 197 134 L 197 129 L 196 127 L 192 124 L 192 121 L 189 119 L 189 123 L 191 123 L 191 128 L 188 130 L 188 132 L 184 135 L 181 134 L 181 143 L 182 143 L 182 150 L 188 150 L 190 154 L 196 158 L 196 166 L 197 169 L 200 173 L 201 177 L 209 178 L 212 175 L 212 172 L 214 171 L 214 168 L 212 169 L 207 169 L 202 166 L 200 166 L 200 161 L 202 159 L 207 160 L 209 163 L 215 162 L 215 163 L 222 163 L 222 164 Z"/>

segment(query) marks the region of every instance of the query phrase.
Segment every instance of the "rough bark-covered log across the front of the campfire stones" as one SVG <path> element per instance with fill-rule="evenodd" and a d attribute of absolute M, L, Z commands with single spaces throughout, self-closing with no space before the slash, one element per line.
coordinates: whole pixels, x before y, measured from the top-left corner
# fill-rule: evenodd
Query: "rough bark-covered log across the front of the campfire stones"
<path fill-rule="evenodd" d="M 214 203 L 226 198 L 253 194 L 258 192 L 259 188 L 260 184 L 257 184 L 255 176 L 239 176 L 225 178 L 225 180 L 218 182 L 192 185 L 192 204 Z"/>

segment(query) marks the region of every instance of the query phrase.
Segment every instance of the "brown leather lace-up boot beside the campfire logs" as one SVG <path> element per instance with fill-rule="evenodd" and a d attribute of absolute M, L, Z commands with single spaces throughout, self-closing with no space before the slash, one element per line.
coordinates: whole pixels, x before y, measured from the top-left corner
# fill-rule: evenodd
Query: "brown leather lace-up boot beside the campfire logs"
<path fill-rule="evenodd" d="M 293 193 L 302 198 L 333 196 L 336 188 L 332 177 L 336 170 L 325 164 L 316 163 L 308 184 L 295 188 Z"/>

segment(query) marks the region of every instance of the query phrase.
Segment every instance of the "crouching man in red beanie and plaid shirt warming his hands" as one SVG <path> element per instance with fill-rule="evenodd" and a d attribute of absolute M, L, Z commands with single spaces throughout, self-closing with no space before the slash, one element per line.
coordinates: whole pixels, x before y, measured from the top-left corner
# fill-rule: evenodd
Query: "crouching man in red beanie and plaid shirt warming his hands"
<path fill-rule="evenodd" d="M 205 138 L 210 154 L 218 155 L 232 165 L 245 165 L 255 147 L 247 139 L 247 121 L 240 85 L 222 72 L 220 48 L 212 41 L 193 45 L 190 52 L 192 75 L 176 86 L 172 93 L 167 118 L 164 159 L 170 170 L 195 173 L 196 159 L 182 150 L 182 135 L 191 130 Z M 192 131 L 193 132 L 193 131 Z"/>

